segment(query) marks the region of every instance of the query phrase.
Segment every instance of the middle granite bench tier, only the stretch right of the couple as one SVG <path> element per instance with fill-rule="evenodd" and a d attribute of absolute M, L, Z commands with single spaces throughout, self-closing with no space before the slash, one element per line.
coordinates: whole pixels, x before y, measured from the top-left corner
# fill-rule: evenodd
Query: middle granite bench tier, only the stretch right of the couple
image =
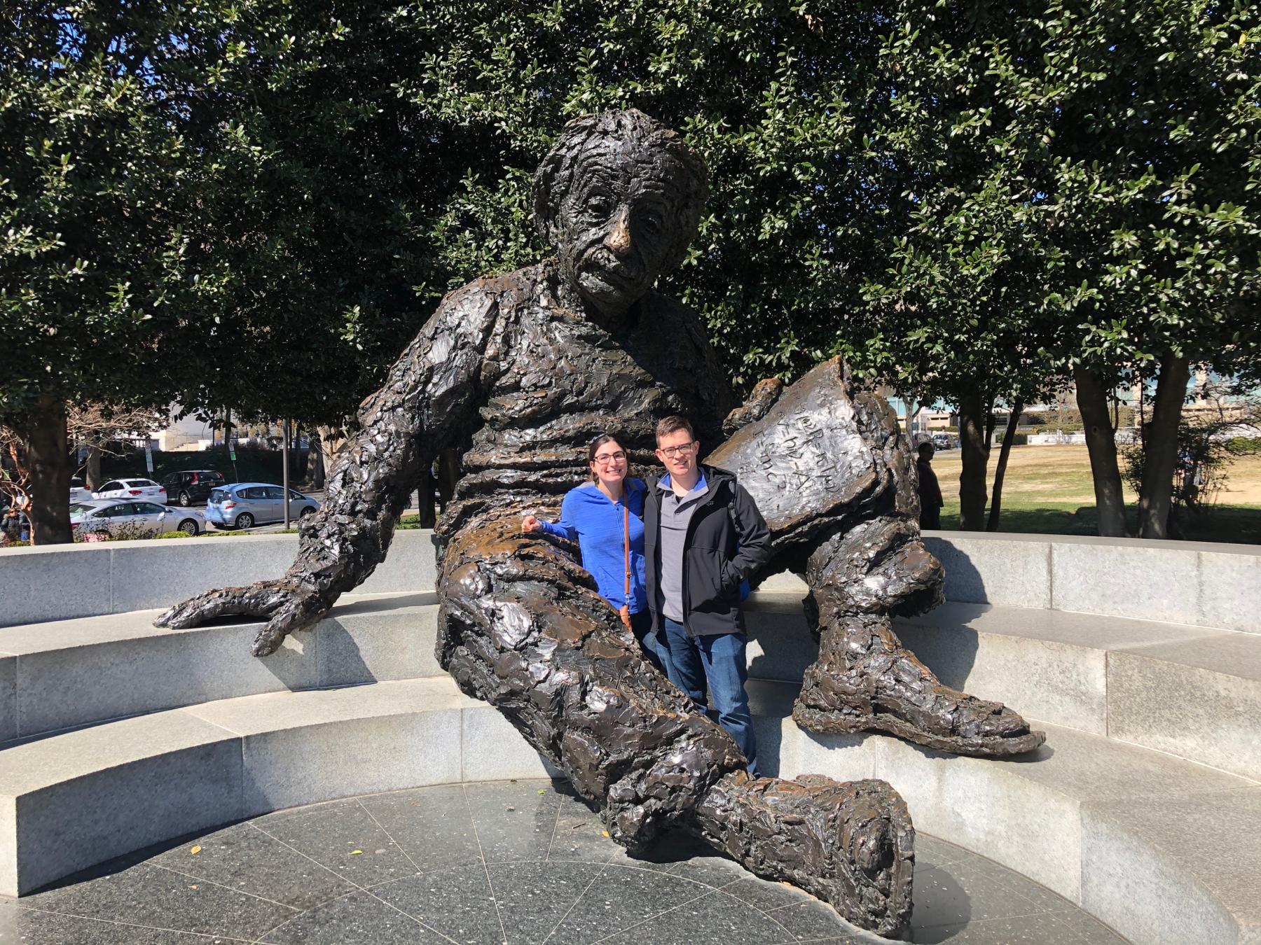
<path fill-rule="evenodd" d="M 753 678 L 817 654 L 801 595 L 750 597 Z M 1261 635 L 1061 610 L 944 604 L 897 621 L 938 678 L 1020 713 L 1261 779 Z"/>

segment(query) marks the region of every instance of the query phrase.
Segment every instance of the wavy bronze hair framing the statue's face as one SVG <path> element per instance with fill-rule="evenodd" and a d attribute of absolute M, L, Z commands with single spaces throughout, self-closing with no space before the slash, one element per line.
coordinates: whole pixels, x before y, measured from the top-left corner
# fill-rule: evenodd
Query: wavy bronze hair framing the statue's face
<path fill-rule="evenodd" d="M 681 174 L 675 178 L 675 184 L 682 203 L 676 226 L 671 227 L 672 244 L 666 271 L 678 268 L 687 256 L 687 244 L 700 226 L 705 198 L 709 195 L 709 174 L 705 161 L 687 146 L 682 135 L 638 108 L 581 115 L 565 125 L 556 144 L 535 171 L 535 223 L 540 236 L 549 244 L 555 242 L 552 226 L 561 200 L 574 184 L 574 169 L 583 154 L 589 147 L 607 146 L 614 141 L 629 145 L 630 149 L 656 149 L 680 169 Z"/>

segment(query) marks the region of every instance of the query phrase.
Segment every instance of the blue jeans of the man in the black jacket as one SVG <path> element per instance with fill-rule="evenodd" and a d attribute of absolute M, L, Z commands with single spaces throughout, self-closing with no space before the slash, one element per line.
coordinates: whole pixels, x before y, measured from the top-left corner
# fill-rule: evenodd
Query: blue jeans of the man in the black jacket
<path fill-rule="evenodd" d="M 670 650 L 670 682 L 687 693 L 696 703 L 697 712 L 706 711 L 705 689 L 706 683 L 709 684 L 719 724 L 735 738 L 749 761 L 749 774 L 757 777 L 758 750 L 753 740 L 753 713 L 749 711 L 749 696 L 744 692 L 744 682 L 749 677 L 744 634 L 690 636 L 682 624 L 665 615 L 661 624 Z"/>

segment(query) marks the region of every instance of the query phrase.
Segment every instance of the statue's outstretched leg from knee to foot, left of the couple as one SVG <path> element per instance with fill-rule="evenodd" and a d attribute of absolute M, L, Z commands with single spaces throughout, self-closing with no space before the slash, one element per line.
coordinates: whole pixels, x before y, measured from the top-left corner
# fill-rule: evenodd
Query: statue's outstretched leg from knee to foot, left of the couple
<path fill-rule="evenodd" d="M 884 781 L 750 779 L 731 737 L 641 656 L 564 542 L 483 519 L 445 551 L 438 656 L 496 706 L 609 835 L 639 849 L 683 829 L 849 921 L 897 935 L 910 915 L 914 830 Z"/>

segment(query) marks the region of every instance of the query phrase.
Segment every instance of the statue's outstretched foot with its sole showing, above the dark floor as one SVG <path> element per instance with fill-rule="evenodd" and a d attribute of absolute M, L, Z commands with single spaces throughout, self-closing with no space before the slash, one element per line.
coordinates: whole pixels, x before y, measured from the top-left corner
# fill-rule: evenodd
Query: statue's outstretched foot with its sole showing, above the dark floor
<path fill-rule="evenodd" d="M 905 803 L 884 781 L 753 780 L 741 771 L 714 785 L 695 823 L 750 872 L 786 879 L 879 935 L 905 931 L 915 832 Z"/>

